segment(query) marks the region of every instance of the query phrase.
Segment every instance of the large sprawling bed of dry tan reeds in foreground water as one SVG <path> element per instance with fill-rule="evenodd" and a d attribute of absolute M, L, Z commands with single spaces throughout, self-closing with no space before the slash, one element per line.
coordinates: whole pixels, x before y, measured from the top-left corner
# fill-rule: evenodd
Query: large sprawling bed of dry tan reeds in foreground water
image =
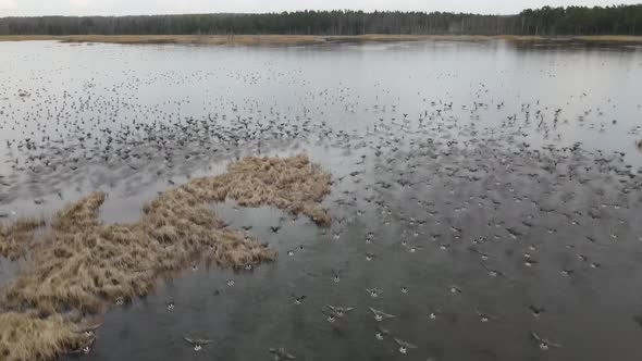
<path fill-rule="evenodd" d="M 34 327 L 42 329 L 60 326 L 64 334 L 70 326 L 61 323 L 60 314 L 70 310 L 100 313 L 115 300 L 147 295 L 159 276 L 189 262 L 240 267 L 272 261 L 275 251 L 227 228 L 207 204 L 231 197 L 244 206 L 270 204 L 329 225 L 330 215 L 318 203 L 329 185 L 330 175 L 305 155 L 246 158 L 230 164 L 225 174 L 196 178 L 161 194 L 144 207 L 136 223 L 109 225 L 98 217 L 104 194 L 90 194 L 58 212 L 50 232 L 34 245 L 27 270 L 8 285 L 2 304 L 12 311 L 37 312 L 48 319 L 23 321 L 34 321 Z M 0 339 L 25 337 L 24 322 L 10 325 L 0 327 Z M 57 354 L 67 345 L 59 334 L 36 333 L 35 337 L 47 338 L 30 340 L 47 348 L 33 350 L 47 352 L 30 353 L 36 359 Z M 22 357 L 20 343 L 7 345 L 11 354 Z"/>

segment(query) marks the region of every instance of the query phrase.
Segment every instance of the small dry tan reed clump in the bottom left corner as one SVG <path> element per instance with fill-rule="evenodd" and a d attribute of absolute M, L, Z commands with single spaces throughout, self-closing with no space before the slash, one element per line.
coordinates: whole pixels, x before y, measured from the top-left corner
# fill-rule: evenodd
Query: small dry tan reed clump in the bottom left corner
<path fill-rule="evenodd" d="M 76 334 L 61 316 L 40 320 L 33 314 L 0 314 L 0 360 L 51 360 L 65 350 L 87 345 L 87 336 Z"/>

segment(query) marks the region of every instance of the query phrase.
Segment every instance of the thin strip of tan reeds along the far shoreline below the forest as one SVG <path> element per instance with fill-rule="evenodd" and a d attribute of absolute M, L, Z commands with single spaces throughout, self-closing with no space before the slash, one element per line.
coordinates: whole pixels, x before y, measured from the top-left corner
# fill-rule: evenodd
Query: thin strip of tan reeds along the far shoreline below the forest
<path fill-rule="evenodd" d="M 317 35 L 9 35 L 0 36 L 3 41 L 60 41 L 71 43 L 101 42 L 121 45 L 239 45 L 239 46 L 304 46 L 323 43 L 365 43 L 396 41 L 583 41 L 610 43 L 642 43 L 642 36 L 595 35 L 595 36 L 522 36 L 522 35 L 384 35 L 358 36 Z"/>

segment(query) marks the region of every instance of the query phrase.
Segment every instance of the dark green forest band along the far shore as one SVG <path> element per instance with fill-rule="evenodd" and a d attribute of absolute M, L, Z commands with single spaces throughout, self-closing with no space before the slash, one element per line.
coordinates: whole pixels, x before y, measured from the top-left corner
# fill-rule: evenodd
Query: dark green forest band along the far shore
<path fill-rule="evenodd" d="M 2 17 L 0 35 L 642 35 L 642 4 L 515 15 L 350 10 L 257 14 Z"/>

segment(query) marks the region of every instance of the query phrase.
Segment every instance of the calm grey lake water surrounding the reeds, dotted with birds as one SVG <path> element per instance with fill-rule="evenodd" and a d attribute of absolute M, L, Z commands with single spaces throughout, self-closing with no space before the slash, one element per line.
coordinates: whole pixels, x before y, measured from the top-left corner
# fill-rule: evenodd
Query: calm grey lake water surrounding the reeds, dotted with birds
<path fill-rule="evenodd" d="M 212 204 L 279 260 L 159 283 L 114 306 L 83 359 L 642 354 L 640 47 L 34 41 L 0 53 L 2 222 L 98 189 L 106 222 L 134 221 L 170 179 L 248 154 L 307 152 L 333 176 L 329 229 Z M 15 269 L 0 260 L 0 283 Z M 355 310 L 329 322 L 326 304 Z M 400 353 L 378 325 L 417 348 Z M 213 343 L 196 352 L 186 335 Z"/>

